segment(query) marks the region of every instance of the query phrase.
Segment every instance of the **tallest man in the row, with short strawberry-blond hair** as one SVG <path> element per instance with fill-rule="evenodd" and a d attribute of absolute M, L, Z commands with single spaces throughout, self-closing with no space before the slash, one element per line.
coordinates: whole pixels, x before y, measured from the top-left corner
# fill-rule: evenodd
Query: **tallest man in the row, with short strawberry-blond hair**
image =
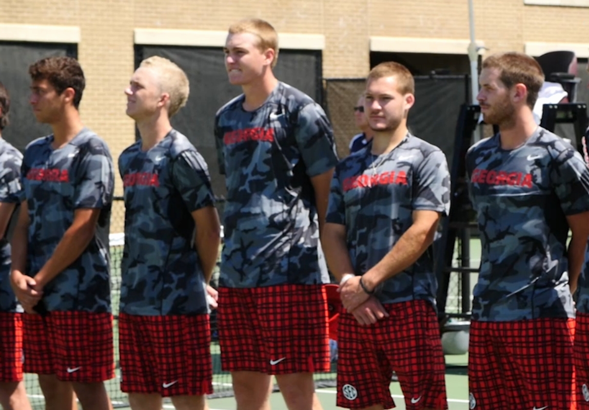
<path fill-rule="evenodd" d="M 320 409 L 313 372 L 329 369 L 329 276 L 319 231 L 337 162 L 332 128 L 315 101 L 274 77 L 278 43 L 268 22 L 232 25 L 225 55 L 243 94 L 215 122 L 227 183 L 221 363 L 239 410 L 269 408 L 271 375 L 290 410 Z"/>

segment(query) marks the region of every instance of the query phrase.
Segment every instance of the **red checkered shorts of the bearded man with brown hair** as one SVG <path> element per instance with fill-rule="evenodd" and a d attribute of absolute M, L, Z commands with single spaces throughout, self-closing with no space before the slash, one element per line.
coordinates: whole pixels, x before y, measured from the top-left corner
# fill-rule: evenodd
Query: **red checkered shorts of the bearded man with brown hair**
<path fill-rule="evenodd" d="M 575 320 L 471 322 L 471 409 L 570 410 L 575 406 Z"/>

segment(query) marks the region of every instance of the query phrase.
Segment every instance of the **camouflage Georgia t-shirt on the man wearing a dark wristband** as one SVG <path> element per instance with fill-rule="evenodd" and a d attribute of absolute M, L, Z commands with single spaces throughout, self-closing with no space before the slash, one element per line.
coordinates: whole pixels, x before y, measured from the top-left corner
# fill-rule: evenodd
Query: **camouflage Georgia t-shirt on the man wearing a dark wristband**
<path fill-rule="evenodd" d="M 372 143 L 336 167 L 327 222 L 346 226 L 346 241 L 357 275 L 366 273 L 413 224 L 413 211 L 450 208 L 450 175 L 444 153 L 408 135 L 391 152 L 372 155 Z M 382 303 L 428 300 L 435 306 L 438 283 L 429 247 L 411 267 L 386 280 L 376 296 Z"/>

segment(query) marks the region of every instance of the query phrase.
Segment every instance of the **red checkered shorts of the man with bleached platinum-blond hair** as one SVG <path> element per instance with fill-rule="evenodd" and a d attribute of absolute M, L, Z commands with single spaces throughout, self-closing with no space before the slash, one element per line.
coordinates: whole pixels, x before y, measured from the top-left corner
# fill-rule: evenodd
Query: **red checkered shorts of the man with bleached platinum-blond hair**
<path fill-rule="evenodd" d="M 122 391 L 163 397 L 213 393 L 208 314 L 121 313 L 118 331 Z"/>

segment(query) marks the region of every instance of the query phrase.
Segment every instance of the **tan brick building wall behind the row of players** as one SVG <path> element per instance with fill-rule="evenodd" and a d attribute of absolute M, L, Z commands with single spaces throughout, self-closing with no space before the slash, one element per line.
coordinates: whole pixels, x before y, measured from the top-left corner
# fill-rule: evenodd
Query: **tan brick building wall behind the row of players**
<path fill-rule="evenodd" d="M 474 3 L 477 40 L 490 52 L 589 57 L 589 1 Z M 2 0 L 0 41 L 77 43 L 88 79 L 82 115 L 117 156 L 134 137 L 123 95 L 134 41 L 220 46 L 227 26 L 248 16 L 272 22 L 283 46 L 322 48 L 324 77 L 365 76 L 371 51 L 465 54 L 469 42 L 466 0 Z"/>

